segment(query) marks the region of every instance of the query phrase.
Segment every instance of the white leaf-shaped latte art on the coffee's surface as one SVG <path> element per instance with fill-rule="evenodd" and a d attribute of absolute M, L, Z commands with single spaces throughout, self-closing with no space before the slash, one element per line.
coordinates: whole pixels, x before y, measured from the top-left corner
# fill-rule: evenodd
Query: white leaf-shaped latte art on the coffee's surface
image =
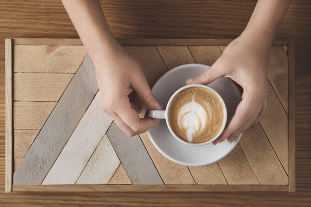
<path fill-rule="evenodd" d="M 183 105 L 177 116 L 178 127 L 186 131 L 187 139 L 192 142 L 193 136 L 202 133 L 207 126 L 208 115 L 204 107 L 192 98 Z"/>

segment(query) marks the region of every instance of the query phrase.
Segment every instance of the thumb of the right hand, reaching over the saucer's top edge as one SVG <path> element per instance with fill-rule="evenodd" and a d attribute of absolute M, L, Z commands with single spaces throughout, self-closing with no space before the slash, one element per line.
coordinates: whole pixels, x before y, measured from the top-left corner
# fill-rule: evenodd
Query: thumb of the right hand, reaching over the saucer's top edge
<path fill-rule="evenodd" d="M 209 84 L 219 77 L 224 76 L 224 71 L 215 64 L 201 74 L 186 80 L 187 84 Z"/>

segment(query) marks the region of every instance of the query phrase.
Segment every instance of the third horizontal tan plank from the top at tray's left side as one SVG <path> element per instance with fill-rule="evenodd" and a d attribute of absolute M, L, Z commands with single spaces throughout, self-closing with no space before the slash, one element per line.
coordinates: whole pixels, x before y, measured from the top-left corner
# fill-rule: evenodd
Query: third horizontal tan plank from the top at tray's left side
<path fill-rule="evenodd" d="M 14 130 L 40 130 L 57 102 L 14 101 Z"/>

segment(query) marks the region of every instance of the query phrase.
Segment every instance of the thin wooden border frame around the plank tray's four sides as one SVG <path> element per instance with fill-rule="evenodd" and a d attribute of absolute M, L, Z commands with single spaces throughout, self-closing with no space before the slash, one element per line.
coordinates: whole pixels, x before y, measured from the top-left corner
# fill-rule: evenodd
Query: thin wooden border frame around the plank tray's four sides
<path fill-rule="evenodd" d="M 132 46 L 226 46 L 231 39 L 118 39 Z M 295 176 L 295 40 L 276 39 L 273 45 L 288 46 L 288 185 L 12 185 L 13 45 L 82 45 L 80 39 L 5 39 L 5 192 L 139 192 L 139 191 L 289 191 L 296 190 Z"/>

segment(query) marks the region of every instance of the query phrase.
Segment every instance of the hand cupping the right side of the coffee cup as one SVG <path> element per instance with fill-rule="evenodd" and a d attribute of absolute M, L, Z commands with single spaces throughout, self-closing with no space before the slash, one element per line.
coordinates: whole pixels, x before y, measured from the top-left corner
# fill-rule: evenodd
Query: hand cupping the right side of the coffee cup
<path fill-rule="evenodd" d="M 209 84 L 219 77 L 230 77 L 244 89 L 242 101 L 214 144 L 228 138 L 232 142 L 240 133 L 262 119 L 267 111 L 269 50 L 260 45 L 259 36 L 242 34 L 231 42 L 223 55 L 206 71 L 187 80 L 187 84 Z"/>

